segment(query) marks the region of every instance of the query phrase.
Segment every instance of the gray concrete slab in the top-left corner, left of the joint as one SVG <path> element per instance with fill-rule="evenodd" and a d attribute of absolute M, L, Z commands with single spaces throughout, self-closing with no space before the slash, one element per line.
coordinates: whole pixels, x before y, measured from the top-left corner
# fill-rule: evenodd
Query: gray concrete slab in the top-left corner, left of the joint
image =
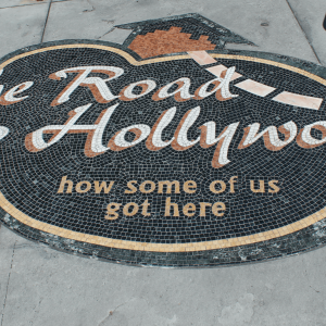
<path fill-rule="evenodd" d="M 48 8 L 43 3 L 0 9 L 0 57 L 41 41 Z"/>

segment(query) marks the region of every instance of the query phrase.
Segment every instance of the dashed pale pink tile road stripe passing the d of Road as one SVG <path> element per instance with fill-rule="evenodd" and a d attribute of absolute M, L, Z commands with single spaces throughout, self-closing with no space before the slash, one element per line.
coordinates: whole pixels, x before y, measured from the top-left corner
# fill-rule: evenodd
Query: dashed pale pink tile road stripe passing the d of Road
<path fill-rule="evenodd" d="M 188 54 L 200 65 L 206 65 L 211 63 L 217 63 L 215 59 L 213 59 L 206 51 L 189 51 Z M 223 71 L 227 70 L 226 66 L 223 64 L 218 64 L 212 67 L 206 68 L 208 72 L 211 74 L 220 77 L 221 73 Z M 242 75 L 235 73 L 231 80 L 235 80 Z M 250 93 L 253 93 L 255 96 L 265 97 L 272 91 L 274 91 L 276 88 L 264 85 L 262 83 L 247 79 L 244 82 L 240 82 L 238 84 L 235 84 L 236 87 L 246 90 Z M 281 93 L 277 95 L 275 98 L 273 98 L 273 101 L 284 103 L 284 104 L 290 104 L 294 106 L 300 106 L 304 109 L 313 109 L 318 110 L 321 108 L 321 104 L 323 102 L 323 99 L 321 98 L 314 98 L 314 97 L 306 97 L 301 96 L 288 91 L 283 91 Z"/>

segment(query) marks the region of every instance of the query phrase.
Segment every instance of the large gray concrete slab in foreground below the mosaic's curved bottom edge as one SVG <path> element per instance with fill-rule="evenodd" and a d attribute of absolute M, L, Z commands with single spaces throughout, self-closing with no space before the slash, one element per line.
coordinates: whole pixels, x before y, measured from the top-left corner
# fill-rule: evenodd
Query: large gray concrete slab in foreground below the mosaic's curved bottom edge
<path fill-rule="evenodd" d="M 211 269 L 122 266 L 16 241 L 3 326 L 326 325 L 326 248 Z M 11 259 L 11 256 L 9 258 Z"/>

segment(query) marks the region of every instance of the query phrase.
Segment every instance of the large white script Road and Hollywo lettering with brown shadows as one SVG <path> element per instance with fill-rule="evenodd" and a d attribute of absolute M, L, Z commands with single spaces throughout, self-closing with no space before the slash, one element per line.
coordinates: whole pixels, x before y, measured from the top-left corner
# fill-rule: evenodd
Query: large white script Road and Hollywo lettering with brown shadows
<path fill-rule="evenodd" d="M 51 79 L 61 80 L 62 78 L 67 78 L 68 73 L 74 73 L 76 76 L 68 83 L 68 85 L 60 92 L 60 95 L 52 101 L 51 106 L 60 105 L 70 100 L 71 95 L 77 87 L 88 87 L 95 99 L 99 103 L 109 103 L 115 99 L 121 101 L 133 101 L 137 100 L 143 96 L 149 95 L 156 88 L 156 83 L 151 79 L 140 80 L 133 83 L 115 96 L 110 90 L 106 82 L 120 77 L 124 70 L 115 66 L 80 66 L 72 67 L 59 71 L 49 76 Z M 106 75 L 106 78 L 89 76 L 90 73 L 101 73 Z M 203 85 L 201 85 L 195 92 L 190 95 L 190 79 L 183 77 L 174 80 L 166 86 L 160 88 L 152 95 L 153 101 L 161 101 L 168 97 L 174 97 L 177 102 L 187 101 L 190 99 L 202 100 L 209 96 L 215 95 L 216 99 L 220 101 L 229 100 L 237 97 L 237 95 L 231 95 L 229 91 L 229 83 L 235 73 L 235 67 L 229 67 L 223 72 L 221 77 L 216 77 Z M 0 71 L 0 75 L 2 71 Z M 1 105 L 10 105 L 21 102 L 28 98 L 28 96 L 18 97 L 22 92 L 26 91 L 34 85 L 34 82 L 25 82 L 17 86 L 14 86 L 10 90 L 5 91 L 0 96 Z M 177 89 L 170 91 L 172 87 L 177 86 Z M 213 86 L 213 88 L 212 88 Z M 139 93 L 135 92 L 135 88 L 140 87 L 141 91 Z M 0 85 L 0 95 L 3 86 Z M 209 90 L 211 89 L 211 90 Z M 155 122 L 153 127 L 146 124 L 131 125 L 122 130 L 117 131 L 109 141 L 108 146 L 102 145 L 102 136 L 105 126 L 110 122 L 110 117 L 118 106 L 118 103 L 111 105 L 110 108 L 103 110 L 93 125 L 76 125 L 78 118 L 91 106 L 91 103 L 79 106 L 77 109 L 68 112 L 70 117 L 64 125 L 49 125 L 45 126 L 32 134 L 28 134 L 25 138 L 26 149 L 30 152 L 39 152 L 49 148 L 50 146 L 58 142 L 66 134 L 87 134 L 87 139 L 85 143 L 85 154 L 88 158 L 93 158 L 96 155 L 102 154 L 108 150 L 122 151 L 127 148 L 134 147 L 139 142 L 146 140 L 146 147 L 150 151 L 158 151 L 167 146 L 171 146 L 176 151 L 185 151 L 199 143 L 201 148 L 210 148 L 216 146 L 212 166 L 215 168 L 222 167 L 229 163 L 228 160 L 228 149 L 238 128 L 239 122 L 233 123 L 226 126 L 221 134 L 216 137 L 216 123 L 213 121 L 206 122 L 199 127 L 201 135 L 195 139 L 188 139 L 188 130 L 197 121 L 200 114 L 200 106 L 196 106 L 186 112 L 186 114 L 180 120 L 174 137 L 168 141 L 162 140 L 162 133 L 168 124 L 173 121 L 176 114 L 176 106 L 164 111 L 159 120 Z M 316 139 L 312 137 L 311 130 L 315 128 L 322 131 L 323 138 Z M 261 137 L 263 138 L 265 147 L 271 151 L 279 151 L 285 146 L 289 145 L 294 138 L 297 138 L 298 146 L 311 149 L 318 147 L 326 142 L 326 121 L 315 122 L 313 124 L 306 125 L 298 134 L 298 128 L 294 122 L 290 121 L 279 126 L 269 126 L 262 131 L 260 130 L 260 124 L 253 123 L 244 128 L 242 140 L 240 141 L 238 149 L 244 149 Z M 128 131 L 135 134 L 135 139 L 133 141 L 127 141 L 125 136 Z M 278 131 L 284 134 L 284 140 L 279 139 Z M 0 139 L 4 138 L 9 134 L 9 128 L 0 127 Z M 53 135 L 48 142 L 43 139 L 43 134 Z"/>

